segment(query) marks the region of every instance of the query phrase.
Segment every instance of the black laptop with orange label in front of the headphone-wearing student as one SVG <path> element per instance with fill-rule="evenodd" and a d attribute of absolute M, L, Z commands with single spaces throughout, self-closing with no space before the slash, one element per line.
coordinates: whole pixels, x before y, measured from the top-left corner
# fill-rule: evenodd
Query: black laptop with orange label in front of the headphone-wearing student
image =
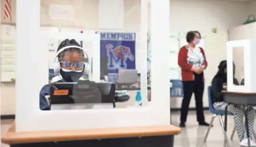
<path fill-rule="evenodd" d="M 53 83 L 51 110 L 113 108 L 115 85 L 91 81 Z"/>

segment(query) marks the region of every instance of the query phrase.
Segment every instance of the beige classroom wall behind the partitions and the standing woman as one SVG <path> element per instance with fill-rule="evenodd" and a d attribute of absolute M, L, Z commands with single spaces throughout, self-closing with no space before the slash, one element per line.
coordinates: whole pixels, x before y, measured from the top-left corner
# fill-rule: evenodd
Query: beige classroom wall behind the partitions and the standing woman
<path fill-rule="evenodd" d="M 1 8 L 3 9 L 1 1 Z M 49 3 L 58 5 L 72 5 L 75 9 L 75 20 L 49 19 Z M 12 7 L 15 1 L 12 0 Z M 124 30 L 140 30 L 140 6 L 137 1 L 124 1 Z M 250 14 L 249 2 L 224 1 L 224 0 L 171 0 L 170 1 L 170 31 L 187 32 L 199 30 L 204 33 L 206 48 L 205 53 L 209 62 L 205 70 L 205 87 L 211 83 L 213 75 L 217 72 L 217 64 L 225 59 L 225 44 L 228 40 L 228 29 L 239 26 Z M 25 8 L 24 8 L 25 9 Z M 2 11 L 1 11 L 2 15 Z M 70 26 L 85 29 L 98 29 L 98 0 L 43 0 L 41 1 L 42 26 Z M 3 16 L 3 15 L 2 15 Z M 111 20 L 110 20 L 111 21 Z M 1 23 L 10 23 L 3 20 Z M 12 9 L 12 23 L 15 23 L 15 9 Z M 107 22 L 106 22 L 107 23 Z M 217 28 L 217 33 L 212 33 L 212 28 Z M 139 58 L 137 59 L 139 60 Z M 204 105 L 208 106 L 208 97 L 205 91 Z M 171 98 L 171 107 L 181 106 L 181 98 Z M 194 107 L 194 101 L 191 101 Z M 1 83 L 1 115 L 15 113 L 15 83 Z"/>

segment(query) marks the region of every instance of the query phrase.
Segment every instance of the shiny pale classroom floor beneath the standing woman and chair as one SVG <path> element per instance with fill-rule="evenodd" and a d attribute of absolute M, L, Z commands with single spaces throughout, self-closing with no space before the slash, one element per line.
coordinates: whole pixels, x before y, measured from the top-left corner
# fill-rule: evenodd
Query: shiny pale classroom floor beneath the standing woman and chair
<path fill-rule="evenodd" d="M 211 120 L 212 114 L 205 111 L 205 120 L 208 122 Z M 173 125 L 179 125 L 179 113 L 174 112 L 171 115 Z M 13 120 L 1 120 L 1 136 L 7 131 Z M 208 140 L 206 143 L 203 142 L 207 127 L 199 127 L 196 122 L 195 112 L 189 113 L 186 123 L 186 128 L 182 129 L 182 133 L 175 136 L 174 146 L 175 147 L 215 147 L 224 146 L 224 137 L 221 131 L 219 119 L 216 117 L 213 122 L 214 127 L 211 129 Z M 229 117 L 228 121 L 228 137 L 230 138 L 234 127 L 233 117 Z M 256 131 L 256 124 L 255 124 Z M 238 147 L 239 141 L 237 135 L 234 136 L 234 140 L 230 141 L 232 147 Z M 8 145 L 1 144 L 1 147 L 7 147 Z"/>

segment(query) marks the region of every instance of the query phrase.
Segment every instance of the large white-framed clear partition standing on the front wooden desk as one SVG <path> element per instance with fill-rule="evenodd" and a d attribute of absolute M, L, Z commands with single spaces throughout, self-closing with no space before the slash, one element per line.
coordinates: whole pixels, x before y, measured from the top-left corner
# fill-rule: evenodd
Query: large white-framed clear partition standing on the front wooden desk
<path fill-rule="evenodd" d="M 45 2 L 16 3 L 17 132 L 170 123 L 169 0 Z M 58 30 L 39 27 L 49 23 Z"/>

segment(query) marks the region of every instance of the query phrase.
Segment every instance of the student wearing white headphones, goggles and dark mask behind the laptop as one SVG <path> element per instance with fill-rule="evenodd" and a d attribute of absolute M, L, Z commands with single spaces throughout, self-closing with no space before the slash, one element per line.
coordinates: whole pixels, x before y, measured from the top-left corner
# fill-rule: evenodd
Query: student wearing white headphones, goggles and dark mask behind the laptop
<path fill-rule="evenodd" d="M 57 74 L 52 82 L 77 82 L 85 80 L 82 76 L 88 73 L 89 64 L 86 52 L 74 39 L 60 43 L 54 61 L 54 72 Z M 40 91 L 40 110 L 50 110 L 49 95 L 51 83 Z"/>

